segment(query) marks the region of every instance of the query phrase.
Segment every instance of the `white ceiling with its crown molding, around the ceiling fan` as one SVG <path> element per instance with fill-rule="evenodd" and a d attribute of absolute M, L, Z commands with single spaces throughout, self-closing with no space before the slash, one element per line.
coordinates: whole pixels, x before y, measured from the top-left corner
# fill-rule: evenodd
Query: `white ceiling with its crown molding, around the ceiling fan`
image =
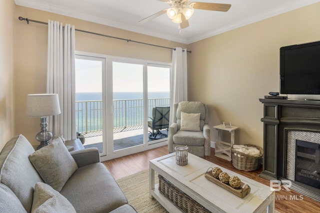
<path fill-rule="evenodd" d="M 197 0 L 190 0 L 194 1 Z M 179 24 L 173 23 L 166 14 L 144 24 L 138 23 L 139 20 L 169 7 L 167 3 L 158 0 L 15 0 L 15 3 L 189 44 L 320 0 L 199 1 L 230 3 L 231 8 L 227 12 L 195 9 L 188 20 L 189 27 L 179 30 Z M 33 19 L 32 15 L 24 18 Z"/>

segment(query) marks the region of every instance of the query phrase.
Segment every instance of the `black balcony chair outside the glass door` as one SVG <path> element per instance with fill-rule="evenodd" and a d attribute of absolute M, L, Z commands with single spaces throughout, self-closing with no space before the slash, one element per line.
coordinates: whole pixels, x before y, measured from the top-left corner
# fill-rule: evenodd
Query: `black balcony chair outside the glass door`
<path fill-rule="evenodd" d="M 169 114 L 170 107 L 153 107 L 152 108 L 152 118 L 151 121 L 148 121 L 148 127 L 152 130 L 149 131 L 149 139 L 155 140 L 160 138 L 168 137 L 167 134 L 162 133 L 160 130 L 166 129 L 168 131 L 169 128 Z M 156 138 L 156 136 L 160 136 L 160 138 Z"/>

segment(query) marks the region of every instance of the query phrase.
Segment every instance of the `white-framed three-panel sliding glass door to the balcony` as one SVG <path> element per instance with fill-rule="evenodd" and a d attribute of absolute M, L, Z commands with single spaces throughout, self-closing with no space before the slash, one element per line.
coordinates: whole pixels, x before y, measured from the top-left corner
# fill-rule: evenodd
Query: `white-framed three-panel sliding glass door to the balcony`
<path fill-rule="evenodd" d="M 169 106 L 170 64 L 77 52 L 75 65 L 85 148 L 98 148 L 103 161 L 166 145 L 168 126 L 159 127 L 153 112 Z"/>

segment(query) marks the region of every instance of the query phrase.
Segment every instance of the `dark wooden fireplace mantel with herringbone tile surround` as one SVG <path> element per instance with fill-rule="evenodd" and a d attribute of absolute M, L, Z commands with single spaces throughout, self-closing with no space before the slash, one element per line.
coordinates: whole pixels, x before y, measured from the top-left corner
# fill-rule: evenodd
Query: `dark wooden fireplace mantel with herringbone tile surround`
<path fill-rule="evenodd" d="M 320 101 L 259 99 L 263 103 L 263 170 L 267 180 L 290 180 L 290 189 L 320 202 L 320 189 L 294 181 L 295 140 L 320 144 Z"/>

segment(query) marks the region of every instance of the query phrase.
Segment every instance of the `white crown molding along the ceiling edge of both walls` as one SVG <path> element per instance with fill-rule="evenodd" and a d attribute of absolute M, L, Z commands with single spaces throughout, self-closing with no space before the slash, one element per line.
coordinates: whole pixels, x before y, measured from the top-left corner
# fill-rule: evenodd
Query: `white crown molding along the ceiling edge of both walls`
<path fill-rule="evenodd" d="M 236 29 L 239 28 L 241 26 L 245 26 L 284 12 L 288 12 L 303 6 L 307 6 L 309 4 L 318 2 L 319 0 L 291 0 L 290 4 L 279 4 L 277 5 L 276 9 L 273 10 L 265 10 L 264 12 L 260 12 L 254 15 L 248 16 L 247 18 L 244 19 L 239 19 L 236 22 L 233 22 L 230 25 L 227 25 L 225 27 L 222 28 L 218 28 L 216 30 L 212 30 L 212 31 L 208 31 L 207 33 L 201 33 L 199 35 L 196 36 L 192 36 L 192 37 L 188 37 L 186 35 L 181 35 L 181 34 L 176 34 L 176 33 L 170 33 L 168 31 L 166 32 L 159 32 L 156 30 L 152 30 L 152 29 L 145 29 L 143 27 L 137 27 L 137 26 L 133 26 L 130 24 L 125 24 L 123 22 L 119 22 L 119 21 L 115 21 L 115 20 L 110 20 L 110 19 L 106 19 L 106 18 L 101 18 L 95 15 L 89 15 L 86 13 L 82 13 L 82 12 L 77 12 L 74 10 L 70 10 L 68 8 L 59 6 L 59 5 L 53 5 L 53 4 L 46 4 L 43 3 L 39 0 L 15 0 L 15 3 L 17 5 L 20 6 L 25 6 L 25 7 L 31 7 L 31 8 L 35 8 L 35 9 L 39 9 L 39 10 L 44 10 L 47 12 L 52 12 L 52 13 L 57 13 L 57 14 L 61 14 L 61 15 L 65 15 L 65 16 L 69 16 L 69 17 L 73 17 L 73 18 L 78 18 L 81 20 L 86 20 L 86 21 L 91 21 L 94 23 L 99 23 L 99 24 L 103 24 L 103 25 L 107 25 L 107 26 L 111 26 L 111 27 L 115 27 L 115 28 L 119 28 L 119 29 L 124 29 L 124 30 L 128 30 L 128 31 L 132 31 L 132 32 L 136 32 L 136 33 L 140 33 L 140 34 L 145 34 L 145 35 L 149 35 L 149 36 L 154 36 L 157 38 L 162 38 L 162 39 L 166 39 L 166 40 L 170 40 L 170 41 L 175 41 L 175 42 L 179 42 L 179 43 L 183 43 L 183 44 L 190 44 L 232 29 Z M 31 18 L 30 18 L 31 19 Z"/>

